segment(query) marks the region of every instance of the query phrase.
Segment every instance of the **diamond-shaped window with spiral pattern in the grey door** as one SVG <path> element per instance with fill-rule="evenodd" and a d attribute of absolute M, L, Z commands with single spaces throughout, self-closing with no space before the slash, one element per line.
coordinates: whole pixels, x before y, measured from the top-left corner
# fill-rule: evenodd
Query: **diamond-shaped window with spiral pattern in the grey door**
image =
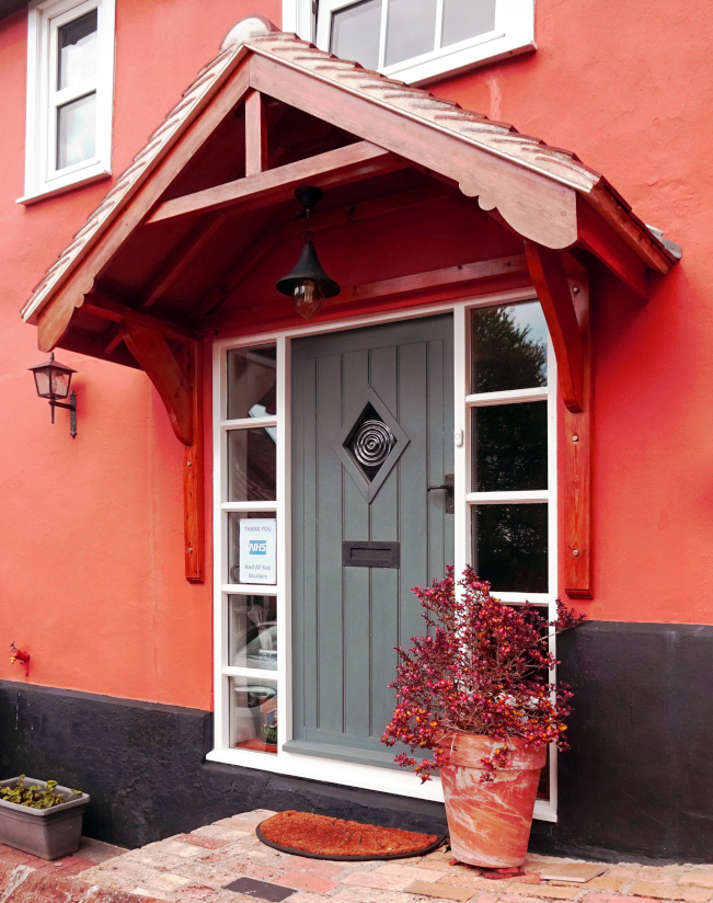
<path fill-rule="evenodd" d="M 364 498 L 371 502 L 410 439 L 371 387 L 349 413 L 334 450 Z"/>

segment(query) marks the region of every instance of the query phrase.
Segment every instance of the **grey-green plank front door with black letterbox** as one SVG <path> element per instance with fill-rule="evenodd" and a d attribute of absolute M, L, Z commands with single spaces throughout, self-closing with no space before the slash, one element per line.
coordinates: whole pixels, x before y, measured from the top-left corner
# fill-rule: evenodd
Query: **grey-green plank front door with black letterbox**
<path fill-rule="evenodd" d="M 411 588 L 453 560 L 452 384 L 450 315 L 292 345 L 291 752 L 393 762 Z"/>

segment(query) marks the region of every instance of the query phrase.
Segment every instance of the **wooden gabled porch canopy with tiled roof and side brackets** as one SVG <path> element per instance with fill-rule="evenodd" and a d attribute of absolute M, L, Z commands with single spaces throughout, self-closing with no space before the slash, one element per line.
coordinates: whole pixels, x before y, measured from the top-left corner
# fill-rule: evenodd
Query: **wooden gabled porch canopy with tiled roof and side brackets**
<path fill-rule="evenodd" d="M 22 311 L 41 350 L 138 367 L 158 389 L 185 446 L 186 578 L 203 580 L 200 348 L 220 332 L 296 322 L 274 286 L 300 248 L 294 193 L 303 185 L 326 192 L 311 222 L 320 249 L 337 237 L 350 249 L 342 259 L 353 259 L 347 272 L 331 272 L 343 288 L 321 320 L 537 289 L 565 434 L 576 436 L 565 445 L 565 585 L 589 595 L 588 324 L 568 275 L 598 262 L 646 300 L 649 273 L 667 273 L 677 247 L 573 153 L 261 16 L 228 34 Z M 417 208 L 433 224 L 457 221 L 463 240 L 404 272 L 396 248 L 413 247 Z M 394 248 L 382 242 L 376 253 L 368 236 L 384 228 Z M 437 244 L 436 228 L 421 231 L 424 247 Z"/>

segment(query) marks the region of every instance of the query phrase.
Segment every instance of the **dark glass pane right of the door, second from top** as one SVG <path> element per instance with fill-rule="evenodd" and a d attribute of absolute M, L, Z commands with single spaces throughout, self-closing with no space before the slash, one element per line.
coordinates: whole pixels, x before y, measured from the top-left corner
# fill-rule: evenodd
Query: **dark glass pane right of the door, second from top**
<path fill-rule="evenodd" d="M 472 491 L 548 488 L 548 403 L 471 409 Z"/>

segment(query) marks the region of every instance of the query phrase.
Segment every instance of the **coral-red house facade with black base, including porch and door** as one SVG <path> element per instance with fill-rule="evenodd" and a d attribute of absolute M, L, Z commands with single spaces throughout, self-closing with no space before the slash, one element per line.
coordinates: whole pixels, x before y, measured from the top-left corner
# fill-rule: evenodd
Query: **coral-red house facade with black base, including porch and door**
<path fill-rule="evenodd" d="M 380 738 L 471 563 L 588 618 L 533 847 L 709 859 L 704 4 L 256 5 L 0 0 L 3 777 L 444 825 Z"/>

